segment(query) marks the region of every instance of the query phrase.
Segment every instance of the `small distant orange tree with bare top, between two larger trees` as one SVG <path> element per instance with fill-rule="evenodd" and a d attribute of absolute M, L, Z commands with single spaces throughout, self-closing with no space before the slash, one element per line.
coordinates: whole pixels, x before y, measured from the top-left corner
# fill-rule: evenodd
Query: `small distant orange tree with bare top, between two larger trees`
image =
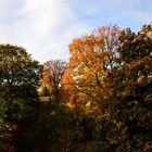
<path fill-rule="evenodd" d="M 65 62 L 61 60 L 50 60 L 43 64 L 40 88 L 45 93 L 50 94 L 53 101 L 61 98 L 61 81 L 65 68 Z M 46 91 L 45 91 L 46 90 Z"/>

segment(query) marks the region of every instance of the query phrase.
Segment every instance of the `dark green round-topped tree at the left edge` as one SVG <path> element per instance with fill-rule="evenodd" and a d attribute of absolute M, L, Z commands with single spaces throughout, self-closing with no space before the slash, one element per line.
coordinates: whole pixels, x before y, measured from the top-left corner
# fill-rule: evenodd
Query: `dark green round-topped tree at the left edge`
<path fill-rule="evenodd" d="M 22 47 L 0 45 L 0 139 L 15 142 L 35 114 L 41 66 Z M 5 141 L 7 143 L 7 141 Z"/>

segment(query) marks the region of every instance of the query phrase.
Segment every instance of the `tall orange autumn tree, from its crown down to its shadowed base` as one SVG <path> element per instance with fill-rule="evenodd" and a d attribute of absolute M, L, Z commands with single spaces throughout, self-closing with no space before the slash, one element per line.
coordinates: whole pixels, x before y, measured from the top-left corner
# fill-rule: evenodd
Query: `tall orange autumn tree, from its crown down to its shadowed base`
<path fill-rule="evenodd" d="M 102 26 L 69 45 L 71 58 L 62 83 L 65 102 L 74 110 L 75 130 L 79 132 L 76 136 L 80 140 L 93 137 L 94 117 L 101 114 L 101 103 L 104 104 L 105 78 L 116 66 L 118 34 L 116 25 Z"/>

